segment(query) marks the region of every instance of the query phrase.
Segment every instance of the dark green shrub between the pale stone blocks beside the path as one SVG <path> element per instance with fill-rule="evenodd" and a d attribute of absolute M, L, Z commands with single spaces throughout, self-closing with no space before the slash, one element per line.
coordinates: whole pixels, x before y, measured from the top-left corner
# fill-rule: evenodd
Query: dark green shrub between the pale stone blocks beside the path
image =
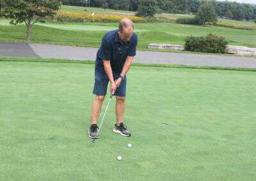
<path fill-rule="evenodd" d="M 228 44 L 222 36 L 208 34 L 207 36 L 193 37 L 189 36 L 185 39 L 185 50 L 192 52 L 207 53 L 227 53 L 226 46 Z"/>

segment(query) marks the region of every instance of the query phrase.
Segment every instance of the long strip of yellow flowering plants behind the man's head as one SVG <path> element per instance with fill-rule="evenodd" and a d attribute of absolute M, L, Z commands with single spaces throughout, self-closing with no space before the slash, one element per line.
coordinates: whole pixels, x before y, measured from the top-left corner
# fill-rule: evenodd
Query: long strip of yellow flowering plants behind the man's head
<path fill-rule="evenodd" d="M 122 15 L 94 15 L 84 13 L 57 13 L 54 20 L 58 22 L 120 22 Z M 129 16 L 132 22 L 147 22 L 145 18 Z"/>

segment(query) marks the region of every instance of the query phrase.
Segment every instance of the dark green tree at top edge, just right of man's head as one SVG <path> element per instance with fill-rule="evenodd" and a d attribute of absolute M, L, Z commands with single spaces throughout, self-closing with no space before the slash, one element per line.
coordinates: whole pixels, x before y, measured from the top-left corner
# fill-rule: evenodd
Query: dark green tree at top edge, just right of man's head
<path fill-rule="evenodd" d="M 138 17 L 154 17 L 156 14 L 156 1 L 155 0 L 140 0 Z"/>

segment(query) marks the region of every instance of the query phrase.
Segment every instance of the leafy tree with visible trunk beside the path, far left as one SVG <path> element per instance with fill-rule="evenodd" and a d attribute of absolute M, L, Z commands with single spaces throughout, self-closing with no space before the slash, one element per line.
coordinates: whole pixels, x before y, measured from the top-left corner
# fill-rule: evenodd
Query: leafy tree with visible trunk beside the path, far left
<path fill-rule="evenodd" d="M 31 27 L 38 21 L 44 22 L 42 19 L 47 16 L 53 17 L 61 5 L 61 0 L 4 0 L 4 2 L 6 4 L 3 11 L 1 11 L 1 16 L 10 18 L 10 24 L 14 25 L 25 22 L 27 25 L 27 41 L 31 40 Z"/>

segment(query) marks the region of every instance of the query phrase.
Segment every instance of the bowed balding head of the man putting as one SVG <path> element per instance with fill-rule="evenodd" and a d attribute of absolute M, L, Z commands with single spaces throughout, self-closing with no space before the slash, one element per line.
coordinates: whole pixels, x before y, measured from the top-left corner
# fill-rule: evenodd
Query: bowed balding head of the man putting
<path fill-rule="evenodd" d="M 120 43 L 129 41 L 133 33 L 133 22 L 129 18 L 123 18 L 120 20 L 118 27 L 118 36 Z"/>

